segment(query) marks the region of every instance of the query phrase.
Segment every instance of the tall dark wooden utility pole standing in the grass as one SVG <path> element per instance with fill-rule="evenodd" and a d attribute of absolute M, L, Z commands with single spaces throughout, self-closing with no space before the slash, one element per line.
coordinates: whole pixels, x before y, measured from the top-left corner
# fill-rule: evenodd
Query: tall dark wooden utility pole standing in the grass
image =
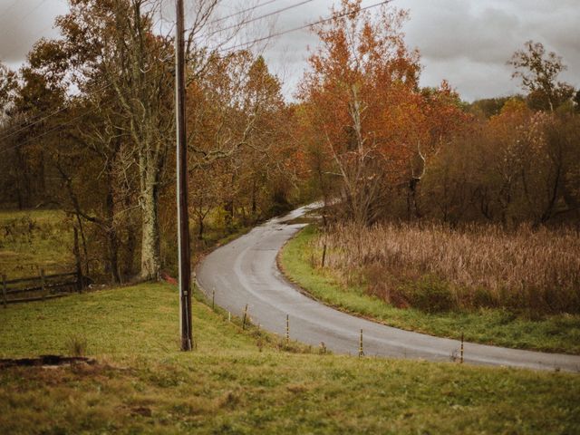
<path fill-rule="evenodd" d="M 175 113 L 177 131 L 177 194 L 179 249 L 179 329 L 181 350 L 192 348 L 191 335 L 191 256 L 189 252 L 188 144 L 185 124 L 185 41 L 183 0 L 176 0 Z"/>

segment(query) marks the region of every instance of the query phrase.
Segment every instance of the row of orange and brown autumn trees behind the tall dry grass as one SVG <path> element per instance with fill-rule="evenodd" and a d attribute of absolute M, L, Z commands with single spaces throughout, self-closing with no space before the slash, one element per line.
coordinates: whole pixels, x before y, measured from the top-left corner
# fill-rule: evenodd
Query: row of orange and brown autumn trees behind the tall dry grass
<path fill-rule="evenodd" d="M 447 82 L 420 88 L 405 11 L 343 1 L 335 12 L 316 29 L 321 44 L 298 93 L 325 218 L 580 221 L 580 92 L 558 81 L 556 53 L 525 43 L 507 63 L 526 94 L 466 103 Z"/>

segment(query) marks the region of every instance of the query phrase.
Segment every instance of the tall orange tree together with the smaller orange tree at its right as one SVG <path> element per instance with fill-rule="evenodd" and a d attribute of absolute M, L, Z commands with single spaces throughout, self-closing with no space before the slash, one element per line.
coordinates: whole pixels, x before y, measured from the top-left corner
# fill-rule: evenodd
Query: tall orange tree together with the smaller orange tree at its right
<path fill-rule="evenodd" d="M 382 216 L 393 188 L 414 192 L 460 112 L 447 83 L 420 91 L 419 53 L 401 32 L 407 16 L 389 4 L 372 15 L 360 0 L 343 0 L 315 30 L 322 43 L 298 92 L 312 173 L 321 186 L 339 186 L 324 198 L 340 199 L 345 217 L 362 225 Z"/>

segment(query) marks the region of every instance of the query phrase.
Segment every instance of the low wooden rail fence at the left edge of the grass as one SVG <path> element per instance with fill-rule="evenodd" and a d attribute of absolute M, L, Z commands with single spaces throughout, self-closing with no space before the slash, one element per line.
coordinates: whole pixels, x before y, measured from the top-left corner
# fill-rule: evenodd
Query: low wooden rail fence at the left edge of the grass
<path fill-rule="evenodd" d="M 81 293 L 89 282 L 89 278 L 78 272 L 44 275 L 43 269 L 39 269 L 38 276 L 27 278 L 8 280 L 6 275 L 2 275 L 2 283 L 0 283 L 2 303 L 6 307 L 6 304 L 42 301 L 73 292 Z"/>

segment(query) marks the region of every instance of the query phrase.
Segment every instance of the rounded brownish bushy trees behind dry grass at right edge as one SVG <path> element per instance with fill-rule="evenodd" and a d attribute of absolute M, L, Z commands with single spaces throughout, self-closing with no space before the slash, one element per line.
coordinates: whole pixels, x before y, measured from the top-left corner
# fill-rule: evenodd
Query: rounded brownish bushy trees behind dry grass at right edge
<path fill-rule="evenodd" d="M 574 222 L 577 115 L 533 111 L 520 99 L 472 121 L 432 160 L 421 198 L 430 218 L 504 227 Z"/>

